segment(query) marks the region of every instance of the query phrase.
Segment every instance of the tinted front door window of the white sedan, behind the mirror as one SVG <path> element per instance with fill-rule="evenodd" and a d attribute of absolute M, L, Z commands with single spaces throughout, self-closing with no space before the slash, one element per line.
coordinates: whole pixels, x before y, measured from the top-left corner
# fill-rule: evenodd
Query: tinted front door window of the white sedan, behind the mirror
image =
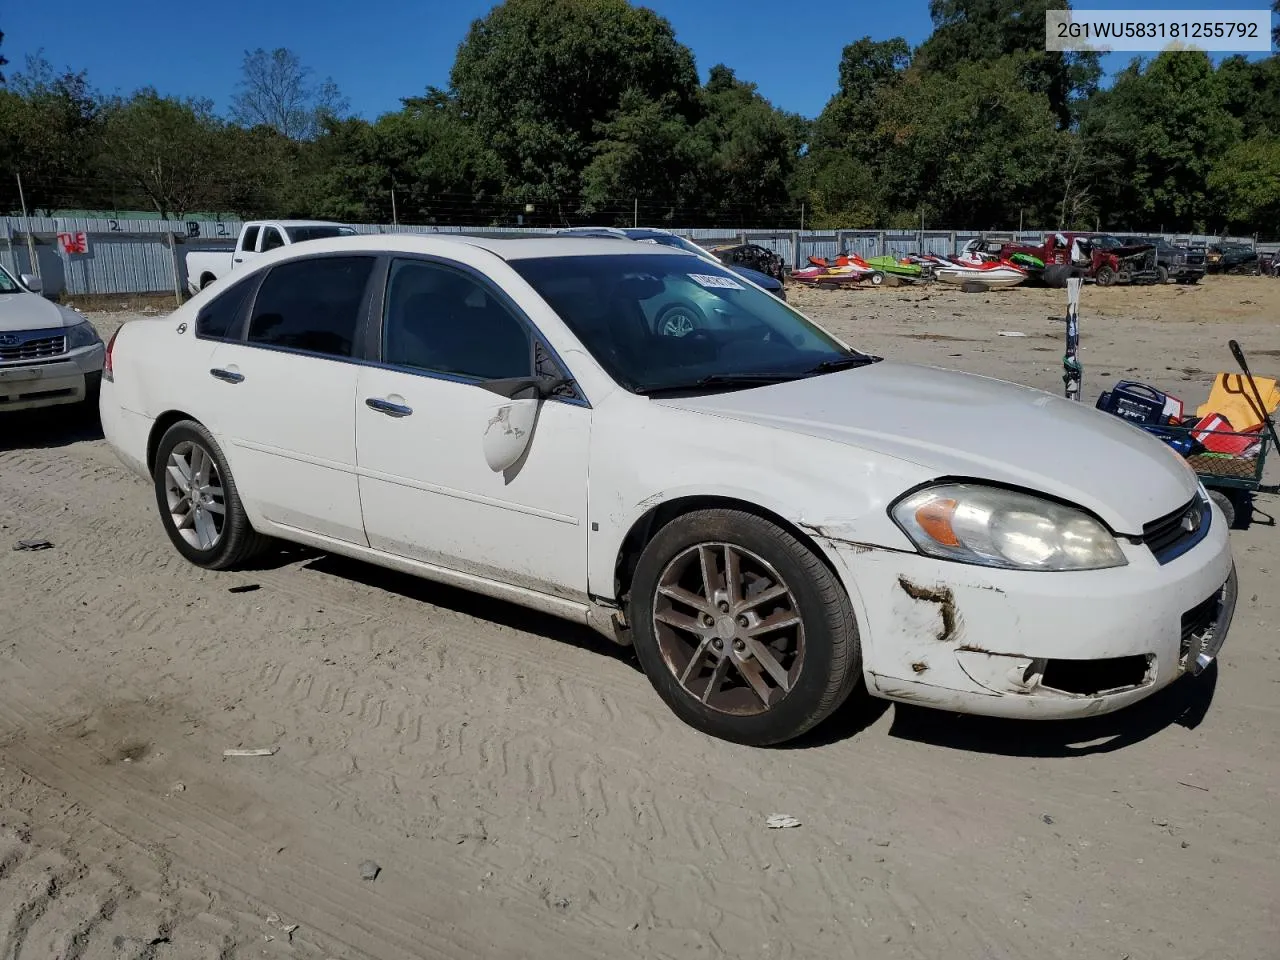
<path fill-rule="evenodd" d="M 384 362 L 481 380 L 529 376 L 530 347 L 525 324 L 467 274 L 413 260 L 392 266 Z"/>

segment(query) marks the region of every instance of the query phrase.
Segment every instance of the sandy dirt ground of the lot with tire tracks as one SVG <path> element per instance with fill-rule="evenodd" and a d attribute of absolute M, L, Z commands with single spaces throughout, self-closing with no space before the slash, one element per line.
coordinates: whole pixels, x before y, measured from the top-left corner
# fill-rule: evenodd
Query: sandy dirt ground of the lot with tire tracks
<path fill-rule="evenodd" d="M 795 298 L 867 349 L 1061 389 L 1061 292 Z M 1230 337 L 1280 374 L 1277 305 L 1247 278 L 1087 289 L 1087 399 L 1129 375 L 1198 403 Z M 548 617 L 303 552 L 198 571 L 96 424 L 10 415 L 0 959 L 1274 960 L 1280 534 L 1257 506 L 1199 681 L 1075 723 L 854 700 L 753 750 Z M 9 549 L 28 536 L 54 547 Z"/>

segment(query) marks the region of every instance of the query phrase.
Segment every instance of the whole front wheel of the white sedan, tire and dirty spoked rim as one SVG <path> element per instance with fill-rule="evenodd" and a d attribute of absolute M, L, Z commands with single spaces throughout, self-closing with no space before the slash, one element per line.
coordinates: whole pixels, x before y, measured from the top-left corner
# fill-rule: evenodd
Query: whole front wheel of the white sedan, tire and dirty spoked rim
<path fill-rule="evenodd" d="M 728 557 L 739 571 L 732 594 Z M 753 590 L 772 595 L 751 603 Z M 792 614 L 797 623 L 785 622 Z M 672 712 L 737 744 L 768 746 L 812 730 L 861 675 L 844 586 L 795 536 L 742 511 L 696 511 L 659 530 L 636 566 L 628 618 L 640 666 Z M 760 631 L 769 620 L 777 625 Z"/>

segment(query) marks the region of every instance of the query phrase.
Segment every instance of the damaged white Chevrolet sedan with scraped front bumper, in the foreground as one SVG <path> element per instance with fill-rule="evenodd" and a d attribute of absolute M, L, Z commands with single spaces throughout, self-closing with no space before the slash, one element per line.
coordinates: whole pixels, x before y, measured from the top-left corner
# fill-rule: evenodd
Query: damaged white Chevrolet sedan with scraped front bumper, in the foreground
<path fill-rule="evenodd" d="M 859 681 L 1117 709 L 1207 667 L 1234 611 L 1226 524 L 1158 440 L 860 353 L 650 244 L 316 241 L 125 324 L 104 379 L 106 438 L 192 563 L 279 538 L 585 622 L 740 742 Z"/>

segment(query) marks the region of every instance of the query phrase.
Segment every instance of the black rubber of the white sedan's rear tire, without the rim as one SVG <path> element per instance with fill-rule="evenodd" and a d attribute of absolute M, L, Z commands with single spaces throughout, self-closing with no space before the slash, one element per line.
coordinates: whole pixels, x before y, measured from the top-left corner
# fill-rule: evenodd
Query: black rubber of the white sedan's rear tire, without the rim
<path fill-rule="evenodd" d="M 169 457 L 180 444 L 195 444 L 212 461 L 216 468 L 221 488 L 223 521 L 219 535 L 211 547 L 201 549 L 197 544 L 189 543 L 178 530 L 174 521 L 173 509 L 169 504 Z M 239 492 L 236 489 L 236 480 L 227 466 L 227 457 L 221 447 L 212 435 L 195 420 L 179 420 L 165 430 L 156 447 L 156 458 L 151 470 L 152 486 L 155 488 L 156 507 L 160 511 L 160 522 L 165 532 L 178 548 L 178 553 L 205 570 L 234 570 L 270 541 L 262 536 L 248 521 L 244 506 L 241 503 Z M 216 498 L 215 498 L 216 502 Z"/>

